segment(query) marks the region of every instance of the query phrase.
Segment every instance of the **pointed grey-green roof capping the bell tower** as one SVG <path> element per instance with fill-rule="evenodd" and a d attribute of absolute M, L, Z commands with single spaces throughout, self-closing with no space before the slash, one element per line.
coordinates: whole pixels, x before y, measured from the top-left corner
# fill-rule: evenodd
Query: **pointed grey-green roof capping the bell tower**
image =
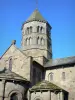
<path fill-rule="evenodd" d="M 31 21 L 47 22 L 37 9 L 31 14 L 31 16 L 27 19 L 26 22 Z"/>

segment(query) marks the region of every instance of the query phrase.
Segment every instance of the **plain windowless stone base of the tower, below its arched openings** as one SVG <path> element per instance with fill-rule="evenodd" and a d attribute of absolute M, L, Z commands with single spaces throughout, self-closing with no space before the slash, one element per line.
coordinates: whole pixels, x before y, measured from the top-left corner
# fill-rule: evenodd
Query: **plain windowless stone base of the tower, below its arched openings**
<path fill-rule="evenodd" d="M 37 61 L 39 64 L 44 65 L 47 61 L 48 51 L 40 49 L 31 49 L 23 51 L 26 55 L 32 56 L 33 60 Z"/>

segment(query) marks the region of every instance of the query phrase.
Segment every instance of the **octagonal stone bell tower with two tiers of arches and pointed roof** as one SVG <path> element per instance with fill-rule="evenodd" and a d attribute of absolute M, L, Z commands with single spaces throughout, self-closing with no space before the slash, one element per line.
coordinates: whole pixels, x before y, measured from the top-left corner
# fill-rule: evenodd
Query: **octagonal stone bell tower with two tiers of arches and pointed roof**
<path fill-rule="evenodd" d="M 36 9 L 22 26 L 22 50 L 34 58 L 52 58 L 51 26 Z"/>

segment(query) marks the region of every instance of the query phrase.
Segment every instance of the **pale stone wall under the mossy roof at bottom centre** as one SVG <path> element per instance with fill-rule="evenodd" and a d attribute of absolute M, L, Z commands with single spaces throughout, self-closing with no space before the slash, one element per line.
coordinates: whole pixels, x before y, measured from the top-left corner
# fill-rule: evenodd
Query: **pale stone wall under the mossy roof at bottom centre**
<path fill-rule="evenodd" d="M 58 92 L 57 94 L 52 91 L 38 91 L 29 94 L 29 100 L 64 100 L 63 92 Z M 67 99 L 66 99 L 67 100 Z"/>

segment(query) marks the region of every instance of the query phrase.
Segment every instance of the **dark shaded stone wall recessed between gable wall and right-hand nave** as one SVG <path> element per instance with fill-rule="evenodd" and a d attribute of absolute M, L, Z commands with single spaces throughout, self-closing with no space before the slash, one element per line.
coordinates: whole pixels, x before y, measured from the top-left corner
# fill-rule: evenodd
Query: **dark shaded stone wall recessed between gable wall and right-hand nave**
<path fill-rule="evenodd" d="M 32 70 L 31 70 L 31 82 L 32 85 L 37 84 L 38 82 L 41 82 L 44 79 L 44 68 L 37 62 L 33 62 Z"/>

